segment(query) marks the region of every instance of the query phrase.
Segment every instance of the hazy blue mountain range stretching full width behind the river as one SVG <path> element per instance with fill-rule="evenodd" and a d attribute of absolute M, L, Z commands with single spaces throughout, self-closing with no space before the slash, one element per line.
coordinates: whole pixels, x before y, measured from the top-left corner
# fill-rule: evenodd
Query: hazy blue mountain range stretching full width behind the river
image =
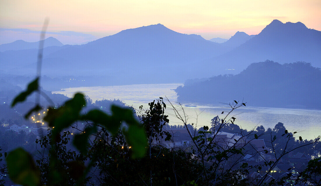
<path fill-rule="evenodd" d="M 100 75 L 114 84 L 183 82 L 237 74 L 249 64 L 267 59 L 306 61 L 321 67 L 320 48 L 321 32 L 300 22 L 273 20 L 258 35 L 237 32 L 224 43 L 157 24 L 123 30 L 88 44 L 48 46 L 44 49 L 43 74 Z M 0 52 L 0 66 L 6 73 L 33 74 L 36 57 L 37 49 L 11 49 Z M 108 84 L 106 80 L 102 83 Z"/>

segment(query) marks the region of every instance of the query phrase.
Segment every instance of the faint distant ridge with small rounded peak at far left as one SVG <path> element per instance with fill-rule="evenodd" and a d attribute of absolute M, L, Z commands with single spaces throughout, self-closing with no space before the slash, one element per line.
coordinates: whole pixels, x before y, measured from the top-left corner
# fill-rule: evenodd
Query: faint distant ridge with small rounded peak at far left
<path fill-rule="evenodd" d="M 48 37 L 45 39 L 44 47 L 48 46 L 62 46 L 63 44 L 58 41 L 54 37 Z M 26 42 L 23 40 L 17 40 L 12 43 L 1 44 L 0 45 L 0 52 L 8 51 L 8 50 L 25 50 L 25 49 L 38 49 L 39 42 Z"/>

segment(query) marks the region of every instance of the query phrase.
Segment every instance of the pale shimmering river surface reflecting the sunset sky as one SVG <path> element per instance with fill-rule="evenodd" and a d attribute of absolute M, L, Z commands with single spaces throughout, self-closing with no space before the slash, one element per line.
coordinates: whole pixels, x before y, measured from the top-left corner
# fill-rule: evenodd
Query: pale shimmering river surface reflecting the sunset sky
<path fill-rule="evenodd" d="M 179 109 L 180 105 L 177 103 L 177 95 L 172 90 L 179 85 L 182 84 L 73 87 L 53 93 L 61 93 L 72 97 L 74 93 L 82 92 L 93 101 L 119 99 L 137 109 L 140 105 L 147 107 L 148 102 L 163 97 L 164 99 L 167 98 L 183 113 L 182 109 Z M 168 105 L 166 111 L 169 115 L 170 124 L 181 124 L 173 115 L 174 111 L 169 106 L 168 101 L 166 102 Z M 228 105 L 221 103 L 213 105 L 188 102 L 182 103 L 182 107 L 188 118 L 188 123 L 197 123 L 197 126 L 210 125 L 213 117 L 218 115 L 220 118 L 224 118 L 225 114 L 230 111 Z M 221 114 L 222 111 L 224 111 L 224 114 Z M 298 135 L 301 135 L 303 138 L 312 139 L 321 134 L 321 110 L 250 107 L 250 103 L 247 103 L 247 107 L 241 107 L 233 111 L 230 117 L 232 116 L 236 117 L 235 124 L 246 129 L 256 128 L 257 125 L 263 125 L 265 129 L 268 127 L 273 128 L 278 122 L 282 122 L 289 131 L 297 131 Z"/>

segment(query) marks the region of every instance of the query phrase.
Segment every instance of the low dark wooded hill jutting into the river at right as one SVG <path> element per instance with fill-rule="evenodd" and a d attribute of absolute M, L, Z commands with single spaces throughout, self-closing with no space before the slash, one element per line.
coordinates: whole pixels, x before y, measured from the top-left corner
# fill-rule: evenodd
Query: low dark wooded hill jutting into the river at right
<path fill-rule="evenodd" d="M 310 63 L 252 63 L 237 75 L 189 81 L 175 91 L 178 101 L 247 102 L 247 106 L 321 109 L 321 69 Z"/>

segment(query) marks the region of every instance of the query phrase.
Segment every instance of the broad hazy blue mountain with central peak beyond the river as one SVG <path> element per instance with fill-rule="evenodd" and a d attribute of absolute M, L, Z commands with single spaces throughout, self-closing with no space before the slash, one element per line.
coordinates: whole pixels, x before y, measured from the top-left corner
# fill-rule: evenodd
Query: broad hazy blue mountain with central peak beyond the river
<path fill-rule="evenodd" d="M 0 62 L 4 63 L 1 58 L 10 60 L 5 57 L 8 52 L 0 53 Z M 181 34 L 157 24 L 123 30 L 44 55 L 43 70 L 49 75 L 106 75 L 127 83 L 182 82 L 199 66 L 198 61 L 225 52 L 224 47 L 199 35 Z M 13 68 L 16 61 L 7 64 Z M 26 66 L 14 71 L 34 67 L 30 66 L 34 62 L 25 60 Z"/>

